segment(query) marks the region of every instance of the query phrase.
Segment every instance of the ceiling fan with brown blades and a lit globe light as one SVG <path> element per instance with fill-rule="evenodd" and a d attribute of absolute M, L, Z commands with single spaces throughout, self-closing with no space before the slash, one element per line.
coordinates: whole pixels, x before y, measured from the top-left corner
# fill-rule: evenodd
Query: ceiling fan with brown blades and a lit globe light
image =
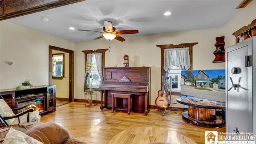
<path fill-rule="evenodd" d="M 119 30 L 115 31 L 116 28 L 112 26 L 112 22 L 109 21 L 104 21 L 104 27 L 102 28 L 104 32 L 99 32 L 102 33 L 102 36 L 99 36 L 97 38 L 94 38 L 94 40 L 98 40 L 100 38 L 106 38 L 107 40 L 113 40 L 114 38 L 116 40 L 119 40 L 121 42 L 125 41 L 124 38 L 119 36 L 118 34 L 137 34 L 139 31 L 138 30 Z M 80 30 L 80 31 L 86 31 L 86 32 L 98 32 L 94 30 Z"/>

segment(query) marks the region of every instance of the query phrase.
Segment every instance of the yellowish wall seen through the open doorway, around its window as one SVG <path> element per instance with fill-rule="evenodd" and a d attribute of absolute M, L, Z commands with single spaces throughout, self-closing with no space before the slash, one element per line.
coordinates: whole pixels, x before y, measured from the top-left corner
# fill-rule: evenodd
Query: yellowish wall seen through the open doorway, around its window
<path fill-rule="evenodd" d="M 53 54 L 64 53 L 65 56 L 65 73 L 62 80 L 52 80 L 56 85 L 56 98 L 69 98 L 69 53 L 52 50 Z"/>

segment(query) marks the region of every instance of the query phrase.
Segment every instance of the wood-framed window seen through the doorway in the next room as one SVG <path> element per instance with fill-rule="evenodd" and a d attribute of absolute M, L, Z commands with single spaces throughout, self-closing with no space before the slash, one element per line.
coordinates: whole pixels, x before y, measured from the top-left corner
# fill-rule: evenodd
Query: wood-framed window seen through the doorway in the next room
<path fill-rule="evenodd" d="M 64 53 L 52 54 L 52 79 L 63 79 L 65 68 Z"/>

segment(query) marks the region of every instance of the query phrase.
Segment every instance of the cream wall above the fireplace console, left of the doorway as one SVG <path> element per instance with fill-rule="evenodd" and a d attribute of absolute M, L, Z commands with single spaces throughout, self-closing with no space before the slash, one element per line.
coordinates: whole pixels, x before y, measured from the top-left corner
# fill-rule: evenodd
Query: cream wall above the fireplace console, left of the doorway
<path fill-rule="evenodd" d="M 74 42 L 1 21 L 0 89 L 16 88 L 26 79 L 34 86 L 48 85 L 49 45 L 74 50 Z"/>

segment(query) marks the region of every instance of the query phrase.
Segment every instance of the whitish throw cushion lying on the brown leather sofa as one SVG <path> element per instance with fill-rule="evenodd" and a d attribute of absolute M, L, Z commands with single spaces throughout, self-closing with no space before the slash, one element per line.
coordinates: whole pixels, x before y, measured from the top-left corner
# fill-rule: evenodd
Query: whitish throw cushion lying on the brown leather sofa
<path fill-rule="evenodd" d="M 4 138 L 4 142 L 2 144 L 43 144 L 34 138 L 20 132 L 18 130 L 14 130 L 10 128 L 10 131 Z"/>

